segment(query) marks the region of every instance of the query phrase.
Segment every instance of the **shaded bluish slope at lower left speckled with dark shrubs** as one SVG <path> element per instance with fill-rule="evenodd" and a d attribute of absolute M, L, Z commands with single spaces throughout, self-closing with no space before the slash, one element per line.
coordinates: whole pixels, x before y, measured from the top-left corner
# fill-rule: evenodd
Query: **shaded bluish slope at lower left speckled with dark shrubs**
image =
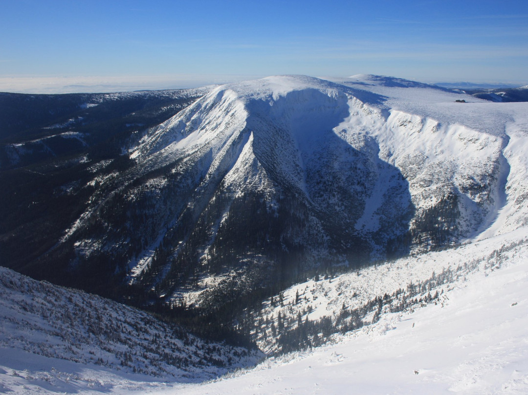
<path fill-rule="evenodd" d="M 261 357 L 255 350 L 204 341 L 137 309 L 2 267 L 0 322 L 0 372 L 27 369 L 20 373 L 31 375 L 26 379 L 36 381 L 36 387 L 57 391 L 89 385 L 97 375 L 84 374 L 85 369 L 122 379 L 196 382 Z M 63 370 L 56 370 L 59 366 Z"/>

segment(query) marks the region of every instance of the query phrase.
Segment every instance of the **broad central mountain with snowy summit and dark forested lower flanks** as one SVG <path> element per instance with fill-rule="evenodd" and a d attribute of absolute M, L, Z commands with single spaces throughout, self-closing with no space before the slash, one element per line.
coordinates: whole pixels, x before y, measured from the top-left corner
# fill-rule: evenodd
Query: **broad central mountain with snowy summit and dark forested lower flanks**
<path fill-rule="evenodd" d="M 456 93 L 362 78 L 228 84 L 150 129 L 63 238 L 71 269 L 178 299 L 482 232 L 504 205 L 507 136 L 446 118 Z M 399 105 L 406 89 L 414 107 Z"/>

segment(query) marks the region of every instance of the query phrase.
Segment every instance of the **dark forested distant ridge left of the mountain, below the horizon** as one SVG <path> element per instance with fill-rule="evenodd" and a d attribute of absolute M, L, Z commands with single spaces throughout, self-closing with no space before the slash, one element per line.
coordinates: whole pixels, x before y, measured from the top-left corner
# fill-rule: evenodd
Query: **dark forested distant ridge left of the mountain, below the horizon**
<path fill-rule="evenodd" d="M 212 88 L 72 95 L 0 92 L 0 169 L 86 151 L 96 156 L 107 156 L 109 148 L 121 151 L 123 147 L 108 143 L 114 139 L 125 145 L 124 135 L 159 124 Z"/>

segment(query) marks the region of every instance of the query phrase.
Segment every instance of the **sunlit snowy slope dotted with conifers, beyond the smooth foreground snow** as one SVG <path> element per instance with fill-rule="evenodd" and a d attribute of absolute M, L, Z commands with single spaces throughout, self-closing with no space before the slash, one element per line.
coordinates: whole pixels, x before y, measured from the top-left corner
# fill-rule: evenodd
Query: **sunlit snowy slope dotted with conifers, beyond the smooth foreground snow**
<path fill-rule="evenodd" d="M 316 331 L 314 339 L 308 334 L 309 345 L 320 344 L 333 333 L 343 332 L 343 325 L 350 330 L 350 319 L 354 317 L 360 323 L 355 327 L 361 328 L 375 322 L 376 314 L 408 311 L 428 303 L 443 304 L 448 299 L 445 293 L 454 287 L 453 283 L 478 271 L 498 269 L 511 256 L 524 254 L 527 238 L 526 228 L 521 228 L 446 251 L 389 261 L 337 277 L 310 279 L 262 304 L 262 309 L 254 315 L 254 337 L 263 351 L 274 354 L 288 350 L 289 344 L 280 336 L 295 333 L 298 317 L 302 321 L 300 327 L 321 323 L 324 319 L 332 324 L 323 338 L 321 329 Z M 277 303 L 279 298 L 281 303 Z M 279 326 L 279 314 L 284 330 L 277 330 L 278 334 L 272 336 L 271 326 Z M 263 325 L 265 321 L 269 323 Z"/>

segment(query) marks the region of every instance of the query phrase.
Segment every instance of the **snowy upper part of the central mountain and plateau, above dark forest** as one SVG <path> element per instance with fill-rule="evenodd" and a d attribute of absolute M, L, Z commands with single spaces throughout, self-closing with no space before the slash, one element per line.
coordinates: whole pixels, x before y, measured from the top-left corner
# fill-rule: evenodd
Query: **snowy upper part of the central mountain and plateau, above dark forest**
<path fill-rule="evenodd" d="M 408 228 L 411 250 L 423 251 L 478 237 L 492 224 L 499 232 L 524 223 L 526 205 L 514 197 L 524 183 L 514 179 L 527 168 L 525 104 L 497 106 L 377 76 L 337 82 L 279 76 L 218 87 L 146 136 L 131 157 L 143 169 L 184 163 L 173 172 L 200 179 L 189 203 L 197 208 L 210 204 L 220 181 L 224 194 L 263 191 L 269 204 L 281 190 L 294 191 L 320 213 L 293 237 L 316 257 L 337 252 L 328 218 L 348 232 L 341 236 L 351 238 L 348 248 L 367 241 L 379 259 L 392 244 L 401 248 Z M 455 102 L 461 98 L 468 102 Z M 441 215 L 454 218 L 440 219 L 435 226 L 445 234 L 433 240 L 424 229 L 446 200 Z"/>

